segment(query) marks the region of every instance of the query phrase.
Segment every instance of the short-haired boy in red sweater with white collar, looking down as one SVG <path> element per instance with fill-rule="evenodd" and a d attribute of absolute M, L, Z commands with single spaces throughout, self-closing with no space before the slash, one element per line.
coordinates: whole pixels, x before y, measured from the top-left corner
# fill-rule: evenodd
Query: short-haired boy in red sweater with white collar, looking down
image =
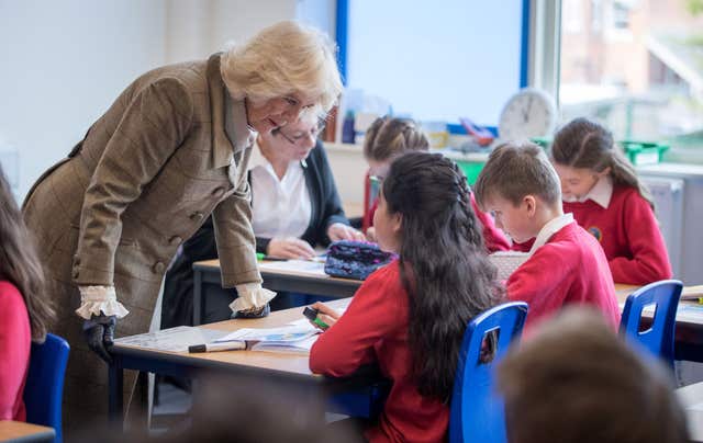
<path fill-rule="evenodd" d="M 535 238 L 529 258 L 507 279 L 512 300 L 529 304 L 531 329 L 568 304 L 592 305 L 620 323 L 615 285 L 603 249 L 561 209 L 559 177 L 542 148 L 506 143 L 495 148 L 475 186 L 481 209 L 514 241 Z"/>

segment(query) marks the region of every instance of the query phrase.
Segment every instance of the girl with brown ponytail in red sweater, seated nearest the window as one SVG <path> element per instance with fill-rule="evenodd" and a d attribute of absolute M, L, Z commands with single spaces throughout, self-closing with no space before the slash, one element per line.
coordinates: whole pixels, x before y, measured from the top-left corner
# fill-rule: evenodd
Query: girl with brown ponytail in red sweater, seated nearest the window
<path fill-rule="evenodd" d="M 603 247 L 617 283 L 671 279 L 671 264 L 654 203 L 613 135 L 588 118 L 563 126 L 551 146 L 563 212 Z"/>

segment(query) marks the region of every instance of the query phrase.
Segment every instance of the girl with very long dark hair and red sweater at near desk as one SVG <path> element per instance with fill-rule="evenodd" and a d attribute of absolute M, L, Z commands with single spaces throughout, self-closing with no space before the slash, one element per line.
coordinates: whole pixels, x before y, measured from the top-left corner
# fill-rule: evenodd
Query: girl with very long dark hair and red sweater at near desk
<path fill-rule="evenodd" d="M 345 376 L 378 362 L 393 383 L 369 441 L 446 438 L 449 398 L 467 323 L 502 300 L 466 177 L 440 155 L 409 152 L 390 167 L 375 218 L 381 249 L 399 259 L 371 274 L 330 325 L 310 368 Z"/>

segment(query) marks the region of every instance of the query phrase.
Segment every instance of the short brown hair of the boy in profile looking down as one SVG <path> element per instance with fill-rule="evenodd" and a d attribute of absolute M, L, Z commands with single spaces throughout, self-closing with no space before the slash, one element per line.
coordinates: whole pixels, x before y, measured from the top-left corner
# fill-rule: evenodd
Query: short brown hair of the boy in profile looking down
<path fill-rule="evenodd" d="M 561 205 L 559 175 L 543 149 L 529 141 L 509 141 L 493 149 L 473 191 L 480 206 L 494 196 L 516 206 L 526 195 Z"/>

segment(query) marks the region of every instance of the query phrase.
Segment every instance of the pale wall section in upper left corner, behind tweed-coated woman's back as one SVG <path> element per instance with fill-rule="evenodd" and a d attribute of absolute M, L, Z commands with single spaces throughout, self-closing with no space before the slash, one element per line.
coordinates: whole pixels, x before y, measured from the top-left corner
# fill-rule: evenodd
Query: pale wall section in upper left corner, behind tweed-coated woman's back
<path fill-rule="evenodd" d="M 165 1 L 0 0 L 0 139 L 18 195 L 140 72 L 164 63 Z"/>

